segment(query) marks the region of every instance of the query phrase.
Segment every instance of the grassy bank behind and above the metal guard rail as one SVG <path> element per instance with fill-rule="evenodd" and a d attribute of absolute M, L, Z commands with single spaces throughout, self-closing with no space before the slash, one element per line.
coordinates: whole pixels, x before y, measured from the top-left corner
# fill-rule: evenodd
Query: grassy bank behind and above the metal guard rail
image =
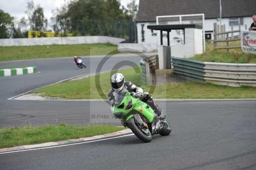
<path fill-rule="evenodd" d="M 226 43 L 219 43 L 218 47 L 226 46 Z M 230 42 L 230 46 L 240 46 L 240 41 Z M 256 63 L 256 55 L 243 53 L 241 49 L 214 50 L 214 44 L 207 42 L 206 52 L 201 55 L 189 58 L 197 61 L 219 62 L 219 63 Z"/>

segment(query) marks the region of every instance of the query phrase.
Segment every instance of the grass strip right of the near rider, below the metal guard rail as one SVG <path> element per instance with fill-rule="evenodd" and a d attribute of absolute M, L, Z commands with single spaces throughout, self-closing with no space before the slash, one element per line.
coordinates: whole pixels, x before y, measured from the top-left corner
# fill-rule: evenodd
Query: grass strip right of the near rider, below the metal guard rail
<path fill-rule="evenodd" d="M 145 90 L 149 87 L 145 86 Z M 215 84 L 201 84 L 194 81 L 184 83 L 167 83 L 157 85 L 154 98 L 191 98 L 191 99 L 230 99 L 230 98 L 256 98 L 256 88 L 249 86 L 230 87 Z"/>

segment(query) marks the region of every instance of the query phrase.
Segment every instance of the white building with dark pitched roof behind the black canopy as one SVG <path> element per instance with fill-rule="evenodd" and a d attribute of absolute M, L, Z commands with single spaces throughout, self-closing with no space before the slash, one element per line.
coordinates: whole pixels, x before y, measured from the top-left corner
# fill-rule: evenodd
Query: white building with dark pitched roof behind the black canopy
<path fill-rule="evenodd" d="M 147 29 L 148 25 L 156 24 L 156 16 L 180 14 L 204 14 L 206 40 L 213 39 L 213 24 L 220 24 L 219 0 L 140 0 L 137 14 L 138 43 L 157 43 L 157 31 Z M 256 0 L 222 0 L 222 20 L 226 31 L 249 28 L 256 14 Z M 190 23 L 196 23 L 189 21 Z M 174 22 L 175 23 L 175 22 Z M 178 24 L 178 23 L 176 23 Z M 200 24 L 200 23 L 199 23 Z M 171 40 L 177 42 L 179 32 L 170 33 Z M 164 42 L 167 38 L 164 38 Z M 172 42 L 171 42 L 172 43 Z"/>

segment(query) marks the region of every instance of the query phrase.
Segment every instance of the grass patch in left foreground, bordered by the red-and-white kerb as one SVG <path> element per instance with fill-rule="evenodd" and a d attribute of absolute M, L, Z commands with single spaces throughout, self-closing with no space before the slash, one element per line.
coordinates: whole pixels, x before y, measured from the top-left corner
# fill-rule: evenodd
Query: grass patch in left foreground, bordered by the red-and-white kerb
<path fill-rule="evenodd" d="M 73 138 L 84 138 L 123 130 L 114 126 L 68 126 L 67 124 L 41 127 L 9 127 L 0 129 L 0 148 L 26 144 L 40 144 Z"/>

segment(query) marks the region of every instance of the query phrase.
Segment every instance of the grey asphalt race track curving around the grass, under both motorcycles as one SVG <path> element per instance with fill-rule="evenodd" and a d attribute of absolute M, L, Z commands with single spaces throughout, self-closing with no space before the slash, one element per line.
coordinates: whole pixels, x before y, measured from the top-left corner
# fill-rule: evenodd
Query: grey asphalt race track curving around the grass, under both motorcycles
<path fill-rule="evenodd" d="M 109 106 L 104 101 L 7 100 L 66 78 L 95 73 L 101 59 L 83 58 L 85 63 L 91 63 L 87 69 L 77 69 L 70 58 L 0 63 L 0 66 L 37 66 L 41 72 L 0 78 L 0 127 L 61 122 L 86 125 L 92 114 L 110 114 Z M 119 61 L 129 60 L 139 64 L 140 59 L 111 58 L 103 71 L 112 69 Z M 142 143 L 131 135 L 72 146 L 0 154 L 0 169 L 256 169 L 256 100 L 157 103 L 166 110 L 171 123 L 173 131 L 169 136 L 155 135 L 150 143 Z M 99 122 L 105 123 L 104 120 Z"/>

